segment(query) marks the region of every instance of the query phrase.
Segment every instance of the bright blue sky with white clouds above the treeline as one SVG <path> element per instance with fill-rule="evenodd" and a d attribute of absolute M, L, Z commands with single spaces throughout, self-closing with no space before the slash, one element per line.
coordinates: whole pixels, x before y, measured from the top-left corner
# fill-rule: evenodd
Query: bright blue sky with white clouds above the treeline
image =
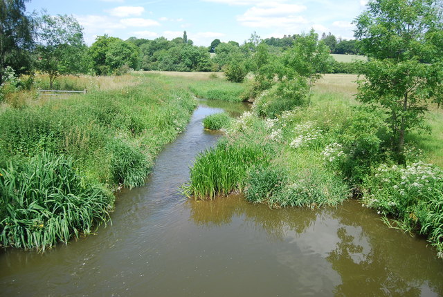
<path fill-rule="evenodd" d="M 127 39 L 182 37 L 198 46 L 213 39 L 242 44 L 257 32 L 262 38 L 308 32 L 332 32 L 352 39 L 352 20 L 365 9 L 366 0 L 33 0 L 27 12 L 46 9 L 51 15 L 73 15 L 91 45 L 99 35 Z"/>

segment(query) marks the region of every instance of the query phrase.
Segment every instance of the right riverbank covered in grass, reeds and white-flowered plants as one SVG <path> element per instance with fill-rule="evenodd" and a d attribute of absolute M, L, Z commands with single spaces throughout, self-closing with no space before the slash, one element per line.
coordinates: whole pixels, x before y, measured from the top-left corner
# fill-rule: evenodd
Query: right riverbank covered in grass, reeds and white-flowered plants
<path fill-rule="evenodd" d="M 246 200 L 273 208 L 359 198 L 390 227 L 427 236 L 443 256 L 442 111 L 431 106 L 431 134 L 410 133 L 406 165 L 395 164 L 386 115 L 354 100 L 355 79 L 325 75 L 310 107 L 287 108 L 272 90 L 258 97 L 253 112 L 231 123 L 219 145 L 197 158 L 186 194 L 204 199 L 243 192 Z M 255 145 L 262 149 L 253 159 L 248 154 Z M 235 160 L 227 151 L 235 151 Z M 217 182 L 226 176 L 226 186 Z"/>

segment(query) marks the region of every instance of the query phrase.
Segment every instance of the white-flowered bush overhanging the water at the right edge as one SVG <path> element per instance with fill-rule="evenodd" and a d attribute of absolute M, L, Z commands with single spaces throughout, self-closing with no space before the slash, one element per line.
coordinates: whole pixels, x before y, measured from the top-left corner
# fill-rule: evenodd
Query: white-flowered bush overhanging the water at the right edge
<path fill-rule="evenodd" d="M 423 162 L 406 167 L 381 164 L 363 185 L 363 206 L 392 215 L 397 228 L 427 235 L 443 256 L 441 169 Z"/>

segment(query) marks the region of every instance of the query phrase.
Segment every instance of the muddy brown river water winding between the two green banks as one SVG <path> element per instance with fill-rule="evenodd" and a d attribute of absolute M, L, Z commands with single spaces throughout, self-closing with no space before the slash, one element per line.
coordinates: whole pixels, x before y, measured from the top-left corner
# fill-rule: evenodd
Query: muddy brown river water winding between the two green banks
<path fill-rule="evenodd" d="M 443 296 L 426 240 L 355 200 L 310 211 L 183 198 L 189 166 L 220 136 L 201 119 L 220 107 L 201 102 L 147 184 L 120 193 L 112 225 L 43 254 L 1 252 L 0 296 Z"/>

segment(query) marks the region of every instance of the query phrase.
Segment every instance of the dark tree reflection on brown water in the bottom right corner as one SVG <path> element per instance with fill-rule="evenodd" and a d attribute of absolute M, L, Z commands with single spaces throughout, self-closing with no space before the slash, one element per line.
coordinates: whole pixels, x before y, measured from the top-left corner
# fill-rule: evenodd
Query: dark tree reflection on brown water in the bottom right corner
<path fill-rule="evenodd" d="M 373 213 L 356 207 L 359 209 L 350 205 L 350 211 L 331 211 L 342 226 L 359 230 L 359 234 L 353 236 L 349 234 L 350 227 L 339 228 L 337 236 L 340 241 L 327 256 L 332 268 L 341 275 L 342 284 L 336 286 L 335 294 L 421 296 L 422 286 L 428 285 L 442 295 L 442 263 L 426 250 L 417 249 L 411 253 L 411 247 L 406 246 L 410 245 L 410 238 L 403 237 L 406 235 L 402 233 L 393 234 L 395 231 L 374 220 Z M 355 256 L 363 253 L 359 238 L 368 240 L 371 249 L 360 261 L 356 261 Z"/>

